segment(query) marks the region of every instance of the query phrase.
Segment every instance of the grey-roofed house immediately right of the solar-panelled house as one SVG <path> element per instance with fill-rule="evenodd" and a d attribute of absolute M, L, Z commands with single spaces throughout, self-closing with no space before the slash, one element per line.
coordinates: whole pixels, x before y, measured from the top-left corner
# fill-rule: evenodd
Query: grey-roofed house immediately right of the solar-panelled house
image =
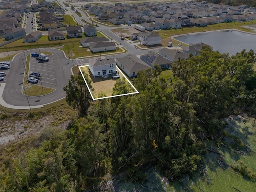
<path fill-rule="evenodd" d="M 159 50 L 159 54 L 162 55 L 163 57 L 168 58 L 171 61 L 175 60 L 188 60 L 189 54 L 182 52 L 180 50 L 170 50 L 168 48 L 162 48 Z"/>

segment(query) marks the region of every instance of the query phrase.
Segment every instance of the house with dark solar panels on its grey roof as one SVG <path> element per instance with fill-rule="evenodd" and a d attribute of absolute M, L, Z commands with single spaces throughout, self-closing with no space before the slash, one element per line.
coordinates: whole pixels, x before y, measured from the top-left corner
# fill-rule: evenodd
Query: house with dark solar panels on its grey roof
<path fill-rule="evenodd" d="M 161 68 L 168 68 L 172 63 L 171 60 L 153 51 L 149 51 L 148 54 L 141 55 L 140 59 L 152 68 L 154 67 L 154 65 L 159 65 Z"/>

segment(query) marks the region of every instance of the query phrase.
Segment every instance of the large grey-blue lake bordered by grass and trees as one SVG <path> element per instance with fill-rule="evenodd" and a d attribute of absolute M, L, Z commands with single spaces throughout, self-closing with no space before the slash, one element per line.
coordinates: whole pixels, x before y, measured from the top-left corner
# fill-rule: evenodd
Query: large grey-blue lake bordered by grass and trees
<path fill-rule="evenodd" d="M 214 51 L 218 50 L 221 53 L 229 52 L 230 55 L 235 55 L 243 49 L 246 49 L 247 52 L 250 51 L 250 49 L 256 52 L 256 35 L 236 30 L 176 36 L 174 39 L 186 44 L 203 42 L 212 46 Z"/>

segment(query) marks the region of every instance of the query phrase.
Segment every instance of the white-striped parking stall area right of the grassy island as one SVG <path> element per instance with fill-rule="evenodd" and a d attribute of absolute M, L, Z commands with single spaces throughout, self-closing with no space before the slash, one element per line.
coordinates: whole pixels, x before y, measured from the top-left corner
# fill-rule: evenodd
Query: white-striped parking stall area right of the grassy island
<path fill-rule="evenodd" d="M 48 62 L 37 61 L 35 57 L 30 58 L 29 73 L 38 72 L 40 73 L 41 82 L 43 86 L 56 88 L 56 74 L 54 69 L 54 60 L 50 55 Z"/>

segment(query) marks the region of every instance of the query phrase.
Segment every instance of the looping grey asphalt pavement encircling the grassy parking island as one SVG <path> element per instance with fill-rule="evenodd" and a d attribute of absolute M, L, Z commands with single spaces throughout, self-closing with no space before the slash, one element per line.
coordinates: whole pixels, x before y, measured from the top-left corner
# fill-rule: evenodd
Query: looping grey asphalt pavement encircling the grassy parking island
<path fill-rule="evenodd" d="M 26 64 L 25 56 L 36 52 L 37 50 L 28 50 L 17 54 L 10 66 L 8 78 L 2 98 L 5 103 L 12 106 L 24 106 L 28 108 L 28 102 L 31 108 L 36 106 L 55 102 L 65 97 L 63 87 L 68 84 L 68 79 L 71 75 L 72 63 L 66 58 L 62 50 L 54 48 L 40 48 L 40 51 L 51 52 L 49 55 L 49 62 L 35 62 L 35 58 L 30 58 L 30 72 L 42 73 L 42 85 L 56 90 L 49 95 L 31 97 L 22 93 L 22 86 L 24 80 L 24 64 Z M 68 64 L 69 63 L 69 64 Z M 38 82 L 40 83 L 40 82 Z M 27 99 L 28 98 L 28 99 Z M 3 105 L 4 106 L 4 105 Z"/>

